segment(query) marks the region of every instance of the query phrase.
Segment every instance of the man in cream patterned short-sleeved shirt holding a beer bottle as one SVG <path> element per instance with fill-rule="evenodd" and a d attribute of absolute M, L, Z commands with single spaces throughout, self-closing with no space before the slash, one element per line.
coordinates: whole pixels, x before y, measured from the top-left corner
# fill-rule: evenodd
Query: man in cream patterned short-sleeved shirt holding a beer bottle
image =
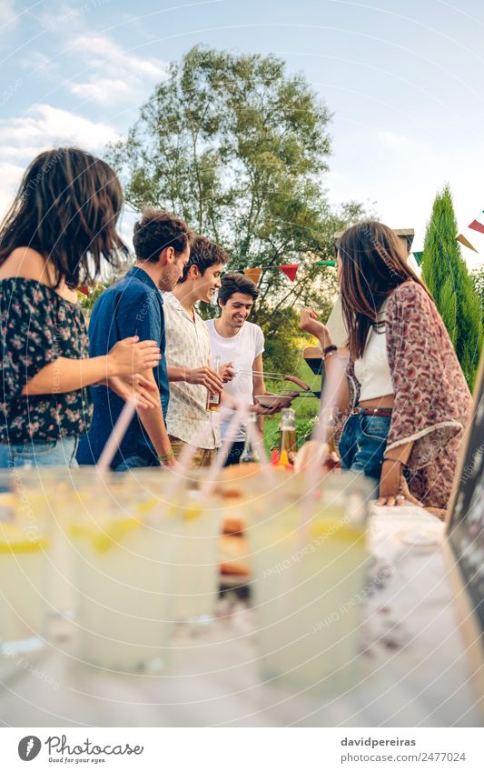
<path fill-rule="evenodd" d="M 207 421 L 208 393 L 222 393 L 222 377 L 209 366 L 210 335 L 195 303 L 210 303 L 221 287 L 222 267 L 229 259 L 221 246 L 196 236 L 190 260 L 173 292 L 163 296 L 166 325 L 166 362 L 170 405 L 166 426 L 175 456 L 194 445 L 193 464 L 209 466 L 221 446 L 220 430 Z M 196 439 L 203 429 L 203 439 Z"/>

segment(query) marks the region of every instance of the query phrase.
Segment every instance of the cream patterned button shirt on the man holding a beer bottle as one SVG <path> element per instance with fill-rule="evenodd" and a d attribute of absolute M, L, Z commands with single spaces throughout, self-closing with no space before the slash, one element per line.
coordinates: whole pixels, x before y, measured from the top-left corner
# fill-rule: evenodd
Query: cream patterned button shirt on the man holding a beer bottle
<path fill-rule="evenodd" d="M 210 336 L 202 316 L 195 311 L 193 319 L 172 292 L 163 293 L 163 312 L 166 364 L 190 369 L 207 366 L 211 353 Z M 205 386 L 184 381 L 170 383 L 170 403 L 166 414 L 168 434 L 196 447 L 220 447 L 220 430 L 212 425 L 212 416 L 206 410 L 207 396 Z"/>

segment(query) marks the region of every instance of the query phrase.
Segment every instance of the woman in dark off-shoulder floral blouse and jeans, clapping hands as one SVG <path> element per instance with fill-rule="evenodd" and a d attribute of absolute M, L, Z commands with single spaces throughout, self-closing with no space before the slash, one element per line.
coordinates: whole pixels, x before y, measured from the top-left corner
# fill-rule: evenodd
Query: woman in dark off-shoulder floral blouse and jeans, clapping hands
<path fill-rule="evenodd" d="M 93 155 L 59 148 L 25 172 L 0 227 L 0 467 L 70 465 L 89 427 L 87 386 L 109 382 L 153 405 L 136 376 L 160 359 L 154 341 L 126 338 L 88 358 L 76 287 L 125 252 L 116 221 L 123 195 Z"/>

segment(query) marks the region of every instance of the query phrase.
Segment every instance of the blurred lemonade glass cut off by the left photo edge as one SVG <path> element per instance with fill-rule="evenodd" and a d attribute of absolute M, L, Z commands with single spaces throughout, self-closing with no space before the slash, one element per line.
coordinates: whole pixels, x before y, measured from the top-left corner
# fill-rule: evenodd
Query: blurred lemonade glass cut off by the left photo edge
<path fill-rule="evenodd" d="M 26 516 L 15 470 L 0 475 L 0 653 L 26 653 L 44 644 L 47 523 Z"/>

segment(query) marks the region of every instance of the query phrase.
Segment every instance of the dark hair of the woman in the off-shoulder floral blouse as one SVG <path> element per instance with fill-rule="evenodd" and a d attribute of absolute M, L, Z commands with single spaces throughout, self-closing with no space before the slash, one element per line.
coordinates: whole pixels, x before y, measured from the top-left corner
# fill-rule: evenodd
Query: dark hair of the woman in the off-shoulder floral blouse
<path fill-rule="evenodd" d="M 116 232 L 123 206 L 111 166 L 76 147 L 47 150 L 25 172 L 0 227 L 0 265 L 19 246 L 35 249 L 54 268 L 55 287 L 99 275 L 102 259 L 118 267 L 127 254 Z"/>

